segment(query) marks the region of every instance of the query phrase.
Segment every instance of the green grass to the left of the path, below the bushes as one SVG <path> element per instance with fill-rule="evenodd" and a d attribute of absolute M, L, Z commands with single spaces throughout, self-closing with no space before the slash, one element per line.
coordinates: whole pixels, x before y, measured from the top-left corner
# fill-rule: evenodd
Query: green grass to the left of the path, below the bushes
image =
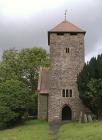
<path fill-rule="evenodd" d="M 48 124 L 32 120 L 24 125 L 0 131 L 0 140 L 48 140 Z"/>

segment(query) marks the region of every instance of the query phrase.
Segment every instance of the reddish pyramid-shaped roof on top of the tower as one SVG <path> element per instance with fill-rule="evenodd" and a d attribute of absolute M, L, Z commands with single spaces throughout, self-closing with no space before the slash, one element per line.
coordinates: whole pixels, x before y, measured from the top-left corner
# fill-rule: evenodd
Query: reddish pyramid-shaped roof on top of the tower
<path fill-rule="evenodd" d="M 82 32 L 82 33 L 85 33 L 84 30 L 80 29 L 76 25 L 74 25 L 66 20 L 59 23 L 57 26 L 52 28 L 49 32 Z"/>

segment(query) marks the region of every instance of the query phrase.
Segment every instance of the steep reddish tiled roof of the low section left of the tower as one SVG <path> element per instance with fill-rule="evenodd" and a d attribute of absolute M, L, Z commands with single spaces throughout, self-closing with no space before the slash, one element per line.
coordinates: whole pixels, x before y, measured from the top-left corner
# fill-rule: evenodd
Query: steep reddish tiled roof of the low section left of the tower
<path fill-rule="evenodd" d="M 39 80 L 38 80 L 38 92 L 40 94 L 48 94 L 49 86 L 49 68 L 40 68 L 39 71 Z"/>

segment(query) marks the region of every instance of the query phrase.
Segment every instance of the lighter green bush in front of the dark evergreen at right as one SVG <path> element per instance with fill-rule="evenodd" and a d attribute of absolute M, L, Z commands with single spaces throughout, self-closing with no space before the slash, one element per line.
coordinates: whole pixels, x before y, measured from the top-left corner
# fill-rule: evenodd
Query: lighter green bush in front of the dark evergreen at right
<path fill-rule="evenodd" d="M 88 83 L 88 88 L 89 107 L 97 114 L 98 118 L 102 118 L 102 79 L 91 79 Z"/>

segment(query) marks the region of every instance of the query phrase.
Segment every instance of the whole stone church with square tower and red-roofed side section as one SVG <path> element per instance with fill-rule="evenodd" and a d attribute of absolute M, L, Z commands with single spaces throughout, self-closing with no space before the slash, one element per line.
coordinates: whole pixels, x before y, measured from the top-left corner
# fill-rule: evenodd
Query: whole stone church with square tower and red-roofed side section
<path fill-rule="evenodd" d="M 48 31 L 50 67 L 39 72 L 38 119 L 78 120 L 87 110 L 76 82 L 84 66 L 85 33 L 67 20 Z"/>

